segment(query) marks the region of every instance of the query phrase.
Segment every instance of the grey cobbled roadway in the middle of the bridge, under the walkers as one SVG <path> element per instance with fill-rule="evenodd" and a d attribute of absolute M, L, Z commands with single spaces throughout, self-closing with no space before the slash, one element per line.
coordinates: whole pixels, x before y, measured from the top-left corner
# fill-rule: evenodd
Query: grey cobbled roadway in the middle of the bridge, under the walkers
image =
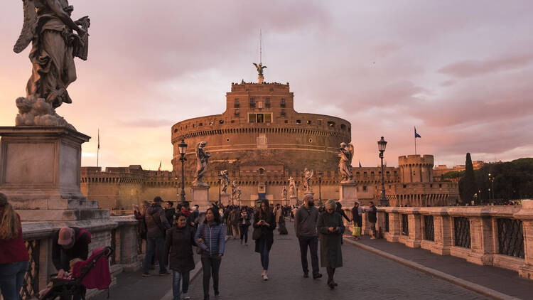
<path fill-rule="evenodd" d="M 487 299 L 348 244 L 343 245 L 344 267 L 335 272 L 338 287 L 330 290 L 325 284 L 325 268 L 321 268 L 322 279 L 302 277 L 293 223 L 287 227 L 289 235 L 274 233 L 267 282 L 261 278 L 254 241 L 246 247 L 239 245 L 239 240 L 228 240 L 220 267 L 219 299 Z M 251 230 L 249 233 L 251 237 Z M 214 299 L 212 288 L 210 294 Z M 189 295 L 203 299 L 201 272 L 191 282 Z"/>

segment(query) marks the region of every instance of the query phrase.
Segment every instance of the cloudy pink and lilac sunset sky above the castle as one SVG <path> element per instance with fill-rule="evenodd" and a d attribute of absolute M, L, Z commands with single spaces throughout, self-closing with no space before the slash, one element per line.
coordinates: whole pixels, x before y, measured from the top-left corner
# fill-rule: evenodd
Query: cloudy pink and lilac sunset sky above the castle
<path fill-rule="evenodd" d="M 255 81 L 259 28 L 267 81 L 290 82 L 298 112 L 352 123 L 354 165 L 377 166 L 384 136 L 436 164 L 533 154 L 531 1 L 70 1 L 89 15 L 72 105 L 58 114 L 92 136 L 82 164 L 171 169 L 171 125 L 225 110 L 231 82 Z M 21 1 L 1 1 L 0 126 L 26 95 L 28 49 L 12 48 Z"/>

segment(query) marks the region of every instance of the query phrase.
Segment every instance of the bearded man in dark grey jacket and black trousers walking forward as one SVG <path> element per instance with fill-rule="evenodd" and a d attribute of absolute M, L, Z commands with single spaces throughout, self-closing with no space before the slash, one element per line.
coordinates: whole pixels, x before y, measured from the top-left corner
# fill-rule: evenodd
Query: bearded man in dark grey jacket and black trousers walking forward
<path fill-rule="evenodd" d="M 294 229 L 298 242 L 300 242 L 301 267 L 303 269 L 303 277 L 308 278 L 307 247 L 309 247 L 313 279 L 318 279 L 322 277 L 322 274 L 318 272 L 318 232 L 316 231 L 318 209 L 314 207 L 312 194 L 307 194 L 303 201 L 304 205 L 296 210 L 294 216 Z"/>

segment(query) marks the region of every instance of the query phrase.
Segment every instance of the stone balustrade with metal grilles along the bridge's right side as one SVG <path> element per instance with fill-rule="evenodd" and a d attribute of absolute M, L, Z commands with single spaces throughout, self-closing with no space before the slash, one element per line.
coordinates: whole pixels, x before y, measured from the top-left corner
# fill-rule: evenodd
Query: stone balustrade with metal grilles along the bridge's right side
<path fill-rule="evenodd" d="M 533 200 L 510 206 L 379 207 L 376 227 L 389 242 L 512 269 L 533 279 Z M 366 213 L 362 233 L 370 235 Z"/>

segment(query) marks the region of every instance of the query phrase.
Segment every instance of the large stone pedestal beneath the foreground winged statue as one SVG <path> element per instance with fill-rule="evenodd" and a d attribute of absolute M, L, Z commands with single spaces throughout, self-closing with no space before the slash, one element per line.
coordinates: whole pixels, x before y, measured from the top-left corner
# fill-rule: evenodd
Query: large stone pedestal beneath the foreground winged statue
<path fill-rule="evenodd" d="M 23 221 L 109 217 L 80 191 L 82 144 L 65 127 L 0 127 L 0 193 Z"/>

